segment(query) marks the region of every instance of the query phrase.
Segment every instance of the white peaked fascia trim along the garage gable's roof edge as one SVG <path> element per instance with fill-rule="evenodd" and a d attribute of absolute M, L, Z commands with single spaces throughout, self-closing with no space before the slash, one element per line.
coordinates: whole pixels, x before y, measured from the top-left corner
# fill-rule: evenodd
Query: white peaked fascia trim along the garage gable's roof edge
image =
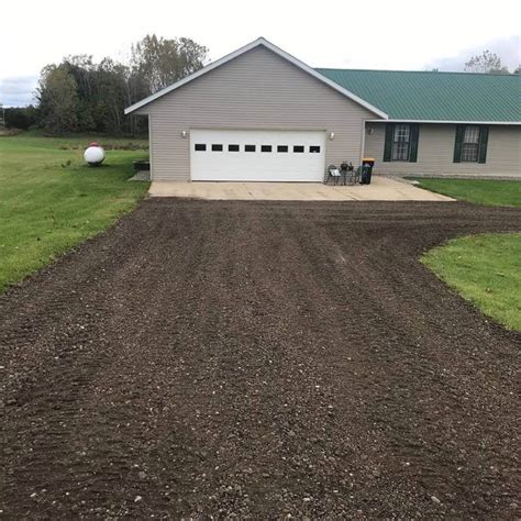
<path fill-rule="evenodd" d="M 222 58 L 207 65 L 202 69 L 199 69 L 197 73 L 191 74 L 190 76 L 187 76 L 186 78 L 182 78 L 181 80 L 165 87 L 164 89 L 157 91 L 156 93 L 148 96 L 147 98 L 142 99 L 137 103 L 132 104 L 131 107 L 128 107 L 125 109 L 125 114 L 130 114 L 137 109 L 141 109 L 142 107 L 151 103 L 152 101 L 155 101 L 156 99 L 160 98 L 162 96 L 167 95 L 168 92 L 171 92 L 173 90 L 178 89 L 179 87 L 182 87 L 184 85 L 199 78 L 200 76 L 206 75 L 207 73 L 210 73 L 211 70 L 220 67 L 221 65 L 224 65 L 225 63 L 236 58 L 237 56 L 241 56 L 244 53 L 247 53 L 248 51 L 257 47 L 258 45 L 264 45 L 266 48 L 269 51 L 274 52 L 278 56 L 282 57 L 284 59 L 288 60 L 289 63 L 293 64 L 295 66 L 299 67 L 300 69 L 304 70 L 309 75 L 313 76 L 318 80 L 322 81 L 323 84 L 328 85 L 332 89 L 336 90 L 337 92 L 342 93 L 346 98 L 350 98 L 353 100 L 355 103 L 358 103 L 359 106 L 364 107 L 368 111 L 373 112 L 374 114 L 387 120 L 388 115 L 381 111 L 380 109 L 372 106 L 367 101 L 363 100 L 362 98 L 358 98 L 356 95 L 351 92 L 347 89 L 344 89 L 341 87 L 339 84 L 335 84 L 331 79 L 326 78 L 325 76 L 322 76 L 320 73 L 311 68 L 309 65 L 306 65 L 303 62 L 300 62 L 297 59 L 295 56 L 291 56 L 290 54 L 286 53 L 281 48 L 277 47 L 273 43 L 268 42 L 267 40 L 259 37 L 255 40 L 254 42 L 248 43 L 247 45 L 244 45 L 244 47 L 239 48 L 237 51 L 234 51 L 233 53 L 228 54 L 226 56 L 223 56 Z"/>

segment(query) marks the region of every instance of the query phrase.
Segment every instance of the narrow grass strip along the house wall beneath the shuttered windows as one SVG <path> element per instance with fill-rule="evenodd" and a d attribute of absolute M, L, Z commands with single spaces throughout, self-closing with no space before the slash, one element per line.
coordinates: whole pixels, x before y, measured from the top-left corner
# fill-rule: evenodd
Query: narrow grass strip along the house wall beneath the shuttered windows
<path fill-rule="evenodd" d="M 415 179 L 421 188 L 462 201 L 497 207 L 521 207 L 521 180 L 488 179 Z"/>

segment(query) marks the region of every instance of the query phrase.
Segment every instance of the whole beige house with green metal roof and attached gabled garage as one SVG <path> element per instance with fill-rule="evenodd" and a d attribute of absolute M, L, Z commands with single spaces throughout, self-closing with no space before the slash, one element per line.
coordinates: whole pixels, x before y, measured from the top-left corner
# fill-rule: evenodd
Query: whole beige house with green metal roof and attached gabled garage
<path fill-rule="evenodd" d="M 313 69 L 265 38 L 129 107 L 154 180 L 321 181 L 376 174 L 520 177 L 521 78 Z"/>

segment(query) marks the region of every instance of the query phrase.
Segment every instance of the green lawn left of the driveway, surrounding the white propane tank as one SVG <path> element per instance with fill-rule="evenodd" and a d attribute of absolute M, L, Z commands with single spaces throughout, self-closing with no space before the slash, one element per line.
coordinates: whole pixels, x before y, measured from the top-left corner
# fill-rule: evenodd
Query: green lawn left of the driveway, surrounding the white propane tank
<path fill-rule="evenodd" d="M 145 141 L 92 136 L 0 136 L 0 291 L 96 235 L 135 207 L 148 188 L 128 182 L 132 160 L 146 151 L 107 152 L 99 168 L 85 165 L 90 141 L 110 148 Z"/>

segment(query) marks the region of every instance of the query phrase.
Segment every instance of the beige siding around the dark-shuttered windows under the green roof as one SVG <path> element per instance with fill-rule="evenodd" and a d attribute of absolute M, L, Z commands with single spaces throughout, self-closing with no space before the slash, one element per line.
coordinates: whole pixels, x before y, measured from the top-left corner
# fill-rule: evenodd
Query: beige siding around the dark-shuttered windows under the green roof
<path fill-rule="evenodd" d="M 373 134 L 370 131 L 373 130 Z M 425 176 L 519 176 L 521 177 L 521 128 L 489 125 L 487 162 L 453 163 L 456 126 L 453 124 L 420 125 L 418 162 L 384 163 L 385 123 L 367 123 L 365 155 L 376 159 L 375 174 Z"/>

